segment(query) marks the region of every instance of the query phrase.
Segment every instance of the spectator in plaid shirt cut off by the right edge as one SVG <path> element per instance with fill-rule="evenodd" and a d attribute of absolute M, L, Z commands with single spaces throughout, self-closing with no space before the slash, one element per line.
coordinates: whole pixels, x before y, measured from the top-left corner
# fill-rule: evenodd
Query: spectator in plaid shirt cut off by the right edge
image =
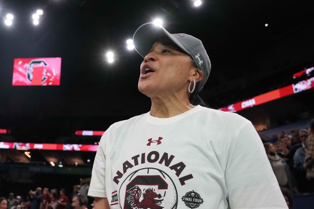
<path fill-rule="evenodd" d="M 309 191 L 314 192 L 314 119 L 309 122 L 308 137 L 305 146 L 304 168 L 309 181 Z"/>

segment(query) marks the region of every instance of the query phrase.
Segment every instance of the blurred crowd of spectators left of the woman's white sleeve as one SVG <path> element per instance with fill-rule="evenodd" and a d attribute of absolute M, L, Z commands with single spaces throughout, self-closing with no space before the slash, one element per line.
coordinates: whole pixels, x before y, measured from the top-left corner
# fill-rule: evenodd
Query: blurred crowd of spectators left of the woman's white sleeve
<path fill-rule="evenodd" d="M 9 193 L 8 198 L 0 197 L 0 209 L 93 209 L 94 204 L 87 196 L 89 181 L 84 185 L 74 185 L 72 192 L 67 195 L 65 189 L 42 189 L 37 187 L 30 190 L 25 198 Z"/>

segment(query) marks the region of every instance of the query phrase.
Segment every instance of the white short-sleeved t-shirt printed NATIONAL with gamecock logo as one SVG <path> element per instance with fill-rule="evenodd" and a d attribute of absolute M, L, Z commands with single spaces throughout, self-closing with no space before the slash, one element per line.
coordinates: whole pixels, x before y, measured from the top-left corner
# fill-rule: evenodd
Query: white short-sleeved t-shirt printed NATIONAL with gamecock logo
<path fill-rule="evenodd" d="M 88 195 L 122 209 L 288 208 L 252 123 L 199 105 L 111 125 Z"/>

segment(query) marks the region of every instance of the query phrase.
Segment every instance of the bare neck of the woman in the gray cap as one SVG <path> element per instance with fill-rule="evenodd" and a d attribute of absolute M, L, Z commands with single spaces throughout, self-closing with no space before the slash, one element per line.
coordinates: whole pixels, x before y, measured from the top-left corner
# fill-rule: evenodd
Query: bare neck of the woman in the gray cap
<path fill-rule="evenodd" d="M 184 99 L 179 97 L 151 98 L 151 100 L 150 115 L 157 118 L 170 118 L 195 107 L 187 97 Z"/>

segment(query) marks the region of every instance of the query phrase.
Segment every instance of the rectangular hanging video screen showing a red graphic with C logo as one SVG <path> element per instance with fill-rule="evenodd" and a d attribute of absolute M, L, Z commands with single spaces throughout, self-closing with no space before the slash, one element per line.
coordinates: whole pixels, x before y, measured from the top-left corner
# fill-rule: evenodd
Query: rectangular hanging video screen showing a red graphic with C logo
<path fill-rule="evenodd" d="M 16 58 L 13 86 L 59 86 L 61 57 Z"/>

